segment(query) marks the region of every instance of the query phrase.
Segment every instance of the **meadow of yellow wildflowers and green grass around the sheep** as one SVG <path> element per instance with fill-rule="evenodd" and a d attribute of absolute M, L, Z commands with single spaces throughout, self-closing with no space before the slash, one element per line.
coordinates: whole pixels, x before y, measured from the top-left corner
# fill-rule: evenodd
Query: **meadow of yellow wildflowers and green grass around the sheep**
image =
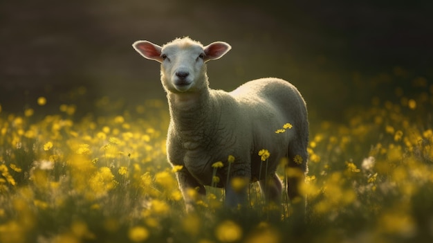
<path fill-rule="evenodd" d="M 391 95 L 340 120 L 310 118 L 305 225 L 286 199 L 271 219 L 257 183 L 235 212 L 208 188 L 185 213 L 166 159 L 165 100 L 110 109 L 116 100 L 102 97 L 98 114 L 80 116 L 80 105 L 45 96 L 22 112 L 0 106 L 0 242 L 430 242 L 433 85 L 386 85 Z M 78 103 L 86 88 L 74 92 Z"/>

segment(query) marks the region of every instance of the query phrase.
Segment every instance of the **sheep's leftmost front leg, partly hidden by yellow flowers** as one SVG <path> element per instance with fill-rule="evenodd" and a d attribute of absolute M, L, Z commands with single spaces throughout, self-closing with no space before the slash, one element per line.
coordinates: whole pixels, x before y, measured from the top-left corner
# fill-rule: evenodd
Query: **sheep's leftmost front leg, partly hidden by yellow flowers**
<path fill-rule="evenodd" d="M 176 177 L 185 201 L 185 208 L 188 213 L 193 212 L 196 202 L 206 195 L 205 187 L 185 169 L 176 172 Z"/>

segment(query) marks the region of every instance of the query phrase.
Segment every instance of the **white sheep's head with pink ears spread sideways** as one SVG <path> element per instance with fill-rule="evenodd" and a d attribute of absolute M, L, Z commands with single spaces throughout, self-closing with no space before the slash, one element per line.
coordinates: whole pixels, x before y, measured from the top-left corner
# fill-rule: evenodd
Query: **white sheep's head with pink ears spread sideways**
<path fill-rule="evenodd" d="M 162 47 L 148 41 L 138 41 L 132 46 L 143 57 L 160 62 L 163 86 L 176 93 L 207 88 L 205 62 L 219 59 L 231 48 L 225 42 L 203 46 L 188 37 L 175 39 Z"/>

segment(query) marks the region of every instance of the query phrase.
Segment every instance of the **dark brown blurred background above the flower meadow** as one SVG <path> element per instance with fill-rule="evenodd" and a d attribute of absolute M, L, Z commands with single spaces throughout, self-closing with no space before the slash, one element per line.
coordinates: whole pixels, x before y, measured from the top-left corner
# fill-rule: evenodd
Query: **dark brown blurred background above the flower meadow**
<path fill-rule="evenodd" d="M 208 64 L 212 88 L 284 78 L 311 116 L 339 119 L 396 89 L 431 87 L 432 9 L 433 1 L 1 1 L 0 105 L 23 111 L 44 96 L 47 107 L 77 102 L 84 114 L 101 98 L 119 109 L 164 99 L 158 63 L 131 44 L 190 36 L 232 45 Z"/>

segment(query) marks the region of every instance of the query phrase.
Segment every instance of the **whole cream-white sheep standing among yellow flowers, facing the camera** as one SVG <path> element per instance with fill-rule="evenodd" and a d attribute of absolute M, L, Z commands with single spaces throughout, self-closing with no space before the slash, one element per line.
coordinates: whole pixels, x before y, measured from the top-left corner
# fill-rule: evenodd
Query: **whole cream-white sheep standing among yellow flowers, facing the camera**
<path fill-rule="evenodd" d="M 304 214 L 306 199 L 300 187 L 307 172 L 308 118 L 306 103 L 293 84 L 261 78 L 231 92 L 210 89 L 206 63 L 230 51 L 225 42 L 203 46 L 183 37 L 162 47 L 137 41 L 133 48 L 160 62 L 170 114 L 167 158 L 172 166 L 180 165 L 176 178 L 187 211 L 195 208 L 188 190 L 194 188 L 205 195 L 204 186 L 223 187 L 229 208 L 248 203 L 248 186 L 235 188 L 225 181 L 228 177 L 250 183 L 258 180 L 266 200 L 281 204 L 282 181 L 276 170 L 287 156 L 286 194 L 292 205 L 297 205 L 294 210 Z M 275 132 L 287 123 L 292 129 L 284 134 Z M 266 166 L 258 155 L 263 149 L 270 154 Z M 230 171 L 228 155 L 234 156 Z M 215 185 L 212 165 L 216 161 L 224 163 L 217 170 L 221 180 Z"/>

